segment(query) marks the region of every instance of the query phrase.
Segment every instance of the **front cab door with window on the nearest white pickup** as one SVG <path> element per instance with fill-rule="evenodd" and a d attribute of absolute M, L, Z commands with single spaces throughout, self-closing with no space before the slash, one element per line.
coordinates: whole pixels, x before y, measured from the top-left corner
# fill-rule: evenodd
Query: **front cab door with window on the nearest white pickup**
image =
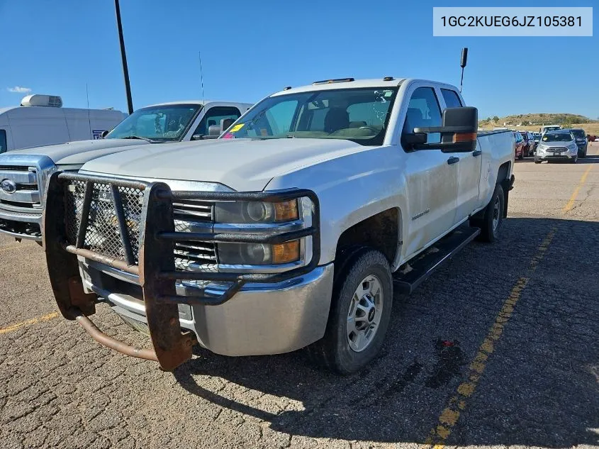
<path fill-rule="evenodd" d="M 410 94 L 408 94 L 410 95 Z M 441 150 L 410 150 L 406 135 L 414 128 L 441 126 L 441 106 L 433 87 L 415 84 L 405 113 L 401 145 L 405 158 L 405 182 L 408 222 L 404 257 L 410 257 L 454 224 L 457 197 L 458 165 L 456 157 Z M 439 143 L 441 135 L 427 136 L 428 143 Z"/>

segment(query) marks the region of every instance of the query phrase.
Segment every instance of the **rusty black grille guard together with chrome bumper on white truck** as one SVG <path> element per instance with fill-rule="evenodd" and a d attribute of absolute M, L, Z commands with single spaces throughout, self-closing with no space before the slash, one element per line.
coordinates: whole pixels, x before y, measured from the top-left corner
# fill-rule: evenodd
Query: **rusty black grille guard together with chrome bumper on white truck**
<path fill-rule="evenodd" d="M 226 232 L 174 228 L 177 201 L 290 199 L 310 204 L 311 219 L 302 228 L 281 226 L 269 233 L 239 226 Z M 113 220 L 99 213 L 100 204 L 111 204 Z M 96 245 L 96 225 L 116 229 L 120 242 Z M 214 352 L 247 355 L 298 349 L 324 334 L 332 267 L 318 266 L 320 209 L 310 190 L 173 192 L 163 182 L 55 173 L 47 188 L 43 227 L 48 273 L 62 316 L 77 320 L 100 343 L 155 360 L 163 370 L 189 360 L 196 338 Z M 174 262 L 180 241 L 272 245 L 303 238 L 310 245 L 309 259 L 284 272 L 186 270 Z M 111 249 L 115 245 L 118 251 Z M 153 350 L 125 345 L 95 328 L 86 317 L 95 313 L 98 296 L 130 321 L 147 323 Z"/>

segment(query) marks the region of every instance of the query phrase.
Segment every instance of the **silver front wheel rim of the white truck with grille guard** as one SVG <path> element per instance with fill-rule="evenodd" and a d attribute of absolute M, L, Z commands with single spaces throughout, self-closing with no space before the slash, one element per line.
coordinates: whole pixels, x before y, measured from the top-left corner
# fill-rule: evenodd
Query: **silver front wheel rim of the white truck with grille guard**
<path fill-rule="evenodd" d="M 378 277 L 366 276 L 358 284 L 349 303 L 345 326 L 349 348 L 356 353 L 368 348 L 374 340 L 381 323 L 383 299 L 383 289 Z"/>

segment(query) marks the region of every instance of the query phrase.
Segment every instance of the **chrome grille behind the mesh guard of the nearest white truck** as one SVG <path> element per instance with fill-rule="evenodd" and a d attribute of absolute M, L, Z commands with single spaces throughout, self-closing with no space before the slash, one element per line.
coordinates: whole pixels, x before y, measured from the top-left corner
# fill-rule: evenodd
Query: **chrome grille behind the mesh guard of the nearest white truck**
<path fill-rule="evenodd" d="M 123 202 L 125 222 L 133 250 L 135 264 L 139 264 L 140 221 L 142 217 L 144 191 L 131 187 L 117 187 Z M 70 245 L 77 242 L 77 231 L 82 219 L 85 182 L 69 181 L 65 184 L 65 215 L 67 240 Z M 189 223 L 212 222 L 212 204 L 207 201 L 184 201 L 173 204 L 174 227 L 177 231 L 189 228 Z M 91 206 L 83 247 L 113 257 L 126 260 L 121 243 L 121 234 L 113 204 L 111 187 L 108 184 L 94 183 Z M 216 252 L 213 243 L 177 241 L 174 249 L 177 270 L 215 270 Z"/>

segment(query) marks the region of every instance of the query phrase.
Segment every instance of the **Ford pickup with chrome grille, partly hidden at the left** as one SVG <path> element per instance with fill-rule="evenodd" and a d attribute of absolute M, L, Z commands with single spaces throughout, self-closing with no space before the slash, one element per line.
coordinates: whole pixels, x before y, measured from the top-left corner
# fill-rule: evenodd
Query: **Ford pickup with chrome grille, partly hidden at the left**
<path fill-rule="evenodd" d="M 138 109 L 105 138 L 47 145 L 0 155 L 0 232 L 42 241 L 43 192 L 56 170 L 77 171 L 85 162 L 133 145 L 217 138 L 251 104 L 179 101 Z M 160 148 L 163 148 L 162 145 Z"/>

